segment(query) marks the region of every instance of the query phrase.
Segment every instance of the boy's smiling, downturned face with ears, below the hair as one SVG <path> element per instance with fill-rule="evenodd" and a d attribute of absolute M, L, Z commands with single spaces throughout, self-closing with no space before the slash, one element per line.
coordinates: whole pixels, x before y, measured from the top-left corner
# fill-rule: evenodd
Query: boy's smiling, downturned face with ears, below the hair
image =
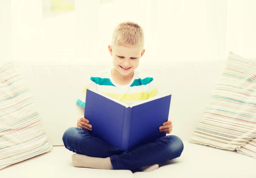
<path fill-rule="evenodd" d="M 121 75 L 128 75 L 133 72 L 140 63 L 145 49 L 140 46 L 116 46 L 109 45 L 108 50 L 113 57 L 113 66 Z"/>

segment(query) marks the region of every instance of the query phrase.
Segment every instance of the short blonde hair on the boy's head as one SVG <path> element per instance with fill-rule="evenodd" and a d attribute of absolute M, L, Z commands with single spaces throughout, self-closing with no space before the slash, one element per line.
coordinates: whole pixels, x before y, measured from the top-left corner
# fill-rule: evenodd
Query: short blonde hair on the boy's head
<path fill-rule="evenodd" d="M 143 29 L 137 23 L 120 23 L 113 31 L 112 44 L 144 48 Z"/>

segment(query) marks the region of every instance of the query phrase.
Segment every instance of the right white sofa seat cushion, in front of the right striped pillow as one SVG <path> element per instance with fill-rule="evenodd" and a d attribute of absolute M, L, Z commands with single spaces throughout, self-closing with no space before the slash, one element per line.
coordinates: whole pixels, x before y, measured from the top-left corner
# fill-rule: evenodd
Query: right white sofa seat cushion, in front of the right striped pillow
<path fill-rule="evenodd" d="M 135 172 L 134 178 L 256 178 L 255 161 L 236 151 L 184 141 L 179 158 L 160 164 L 153 172 Z"/>

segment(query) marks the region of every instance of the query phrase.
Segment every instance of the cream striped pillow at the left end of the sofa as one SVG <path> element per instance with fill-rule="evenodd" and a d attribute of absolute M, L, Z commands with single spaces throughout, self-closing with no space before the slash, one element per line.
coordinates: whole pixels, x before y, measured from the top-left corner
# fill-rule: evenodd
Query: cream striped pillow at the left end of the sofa
<path fill-rule="evenodd" d="M 51 149 L 22 76 L 12 63 L 0 67 L 0 169 Z"/>

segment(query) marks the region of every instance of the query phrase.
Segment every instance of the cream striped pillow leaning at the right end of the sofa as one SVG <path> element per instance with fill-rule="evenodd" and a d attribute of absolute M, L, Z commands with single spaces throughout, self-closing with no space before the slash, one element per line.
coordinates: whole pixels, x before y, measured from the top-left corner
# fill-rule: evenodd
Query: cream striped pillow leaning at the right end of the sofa
<path fill-rule="evenodd" d="M 227 66 L 189 143 L 256 158 L 256 63 L 229 52 Z"/>

